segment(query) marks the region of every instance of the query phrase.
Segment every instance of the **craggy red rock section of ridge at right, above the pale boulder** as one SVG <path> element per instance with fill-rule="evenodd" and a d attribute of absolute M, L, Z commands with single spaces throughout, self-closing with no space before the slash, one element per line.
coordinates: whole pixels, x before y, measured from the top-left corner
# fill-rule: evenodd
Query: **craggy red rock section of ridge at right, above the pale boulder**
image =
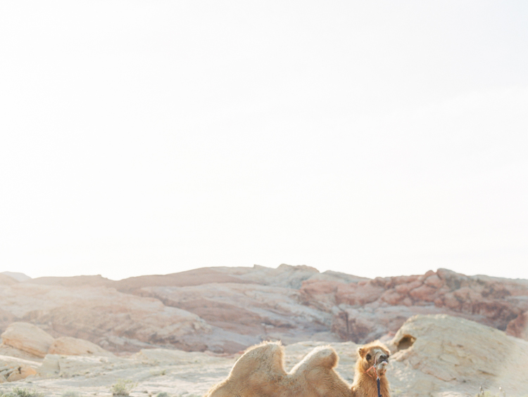
<path fill-rule="evenodd" d="M 334 314 L 332 331 L 359 343 L 394 333 L 416 314 L 448 314 L 525 337 L 528 280 L 466 276 L 446 269 L 344 285 L 307 280 L 304 304 Z M 331 308 L 329 308 L 332 306 Z"/>

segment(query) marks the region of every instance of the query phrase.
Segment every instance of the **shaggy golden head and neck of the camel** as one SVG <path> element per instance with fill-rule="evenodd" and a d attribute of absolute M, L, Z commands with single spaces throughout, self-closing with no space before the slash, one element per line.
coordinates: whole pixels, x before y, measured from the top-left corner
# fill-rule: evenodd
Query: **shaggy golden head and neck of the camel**
<path fill-rule="evenodd" d="M 365 344 L 358 349 L 358 360 L 352 392 L 354 397 L 377 397 L 376 372 L 379 376 L 380 391 L 383 397 L 390 397 L 389 381 L 385 377 L 386 366 L 389 365 L 389 349 L 379 341 Z M 376 371 L 372 368 L 375 365 Z"/>

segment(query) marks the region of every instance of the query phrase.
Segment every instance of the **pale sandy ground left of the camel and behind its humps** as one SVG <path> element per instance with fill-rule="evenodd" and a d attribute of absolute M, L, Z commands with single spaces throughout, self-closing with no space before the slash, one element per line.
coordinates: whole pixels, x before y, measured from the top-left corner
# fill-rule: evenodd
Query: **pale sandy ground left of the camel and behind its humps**
<path fill-rule="evenodd" d="M 291 369 L 306 353 L 323 344 L 326 343 L 310 341 L 286 346 L 285 367 Z M 352 382 L 356 344 L 333 346 L 341 357 L 339 373 Z M 48 355 L 39 368 L 42 375 L 0 384 L 0 391 L 24 387 L 40 391 L 44 396 L 61 396 L 67 391 L 75 391 L 80 396 L 111 396 L 113 384 L 130 380 L 137 384 L 130 392 L 133 397 L 156 396 L 161 392 L 175 397 L 203 396 L 213 384 L 227 377 L 239 356 L 163 349 L 145 350 L 130 358 Z M 34 362 L 35 366 L 39 364 Z"/>

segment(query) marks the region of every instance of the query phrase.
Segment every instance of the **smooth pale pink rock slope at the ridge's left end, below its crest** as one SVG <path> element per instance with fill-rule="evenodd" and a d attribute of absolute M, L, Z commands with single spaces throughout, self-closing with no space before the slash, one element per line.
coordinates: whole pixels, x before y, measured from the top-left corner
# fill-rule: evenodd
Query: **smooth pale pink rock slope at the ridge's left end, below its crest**
<path fill-rule="evenodd" d="M 210 325 L 194 313 L 111 287 L 21 282 L 1 292 L 1 306 L 18 319 L 39 325 L 53 337 L 87 339 L 111 351 L 156 345 L 204 350 L 200 336 L 210 332 Z"/>

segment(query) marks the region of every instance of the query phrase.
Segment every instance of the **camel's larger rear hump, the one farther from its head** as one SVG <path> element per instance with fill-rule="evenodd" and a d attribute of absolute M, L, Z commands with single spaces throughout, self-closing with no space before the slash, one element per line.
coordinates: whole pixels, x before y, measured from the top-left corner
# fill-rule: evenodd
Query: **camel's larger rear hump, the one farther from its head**
<path fill-rule="evenodd" d="M 263 342 L 247 350 L 234 363 L 230 379 L 246 379 L 251 375 L 282 377 L 284 371 L 284 351 L 280 342 Z"/>

